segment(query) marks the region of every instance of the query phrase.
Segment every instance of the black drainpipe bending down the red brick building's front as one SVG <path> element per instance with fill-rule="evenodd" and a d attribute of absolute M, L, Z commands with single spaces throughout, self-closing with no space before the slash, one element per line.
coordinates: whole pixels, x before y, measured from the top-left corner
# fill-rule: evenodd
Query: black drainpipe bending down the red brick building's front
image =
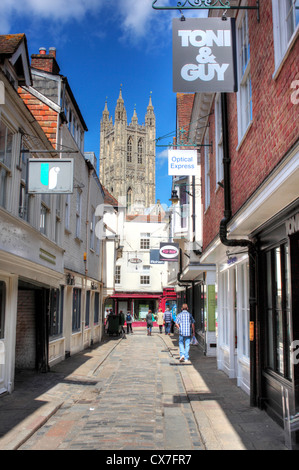
<path fill-rule="evenodd" d="M 250 338 L 250 405 L 256 406 L 256 332 L 257 332 L 257 313 L 256 313 L 256 261 L 257 249 L 255 244 L 246 239 L 228 239 L 227 225 L 232 217 L 231 210 L 231 181 L 230 181 L 230 156 L 228 145 L 228 119 L 227 119 L 227 96 L 221 93 L 221 112 L 222 112 L 222 135 L 223 135 L 223 176 L 224 176 L 224 217 L 220 222 L 219 237 L 221 243 L 225 246 L 247 247 L 249 258 L 249 309 L 250 324 L 254 325 L 254 337 Z"/>

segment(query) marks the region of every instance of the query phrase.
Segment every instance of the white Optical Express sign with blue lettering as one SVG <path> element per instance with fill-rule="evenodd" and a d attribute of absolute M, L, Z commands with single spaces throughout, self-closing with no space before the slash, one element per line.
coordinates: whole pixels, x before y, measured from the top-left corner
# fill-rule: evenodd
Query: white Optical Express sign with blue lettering
<path fill-rule="evenodd" d="M 168 150 L 168 174 L 192 176 L 197 170 L 197 150 Z"/>

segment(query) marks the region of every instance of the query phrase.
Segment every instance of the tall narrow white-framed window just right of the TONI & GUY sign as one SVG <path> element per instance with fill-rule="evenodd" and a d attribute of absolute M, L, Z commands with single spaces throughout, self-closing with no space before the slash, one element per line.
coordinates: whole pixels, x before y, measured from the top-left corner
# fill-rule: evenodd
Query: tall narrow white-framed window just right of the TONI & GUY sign
<path fill-rule="evenodd" d="M 244 13 L 238 27 L 238 136 L 242 140 L 250 122 L 252 121 L 252 90 L 250 75 L 250 43 L 248 29 L 248 14 Z"/>

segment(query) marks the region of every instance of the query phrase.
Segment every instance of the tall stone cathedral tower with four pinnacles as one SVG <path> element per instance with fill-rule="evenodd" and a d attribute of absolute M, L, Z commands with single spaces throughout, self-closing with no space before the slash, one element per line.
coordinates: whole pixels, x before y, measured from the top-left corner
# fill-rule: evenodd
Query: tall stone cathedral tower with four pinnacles
<path fill-rule="evenodd" d="M 145 124 L 138 124 L 136 109 L 128 124 L 120 90 L 114 116 L 107 102 L 100 132 L 100 181 L 127 213 L 142 213 L 155 204 L 156 119 L 150 97 Z"/>

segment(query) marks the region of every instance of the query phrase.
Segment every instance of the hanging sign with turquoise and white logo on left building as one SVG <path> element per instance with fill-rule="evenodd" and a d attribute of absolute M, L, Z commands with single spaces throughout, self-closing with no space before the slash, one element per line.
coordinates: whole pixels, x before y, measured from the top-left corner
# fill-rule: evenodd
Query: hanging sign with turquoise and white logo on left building
<path fill-rule="evenodd" d="M 69 194 L 73 192 L 72 158 L 30 158 L 28 160 L 29 194 Z"/>

